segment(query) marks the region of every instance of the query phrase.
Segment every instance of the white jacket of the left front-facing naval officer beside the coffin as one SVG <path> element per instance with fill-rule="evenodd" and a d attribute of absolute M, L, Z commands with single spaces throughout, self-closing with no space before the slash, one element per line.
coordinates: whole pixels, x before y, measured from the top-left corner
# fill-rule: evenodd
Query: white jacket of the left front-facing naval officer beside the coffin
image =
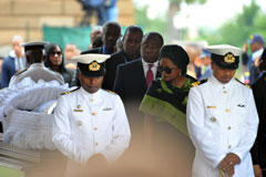
<path fill-rule="evenodd" d="M 130 143 L 130 126 L 119 95 L 82 87 L 59 98 L 52 140 L 70 159 L 85 164 L 94 154 L 115 160 Z"/>

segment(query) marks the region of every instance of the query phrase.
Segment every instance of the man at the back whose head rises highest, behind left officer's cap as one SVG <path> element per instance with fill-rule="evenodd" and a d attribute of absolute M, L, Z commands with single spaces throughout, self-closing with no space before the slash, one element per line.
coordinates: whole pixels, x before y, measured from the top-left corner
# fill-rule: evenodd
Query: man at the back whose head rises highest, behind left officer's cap
<path fill-rule="evenodd" d="M 116 40 L 121 37 L 121 27 L 115 21 L 109 21 L 104 23 L 102 31 L 103 46 L 91 49 L 81 52 L 81 54 L 88 53 L 101 53 L 101 54 L 112 54 L 114 53 L 114 46 Z"/>

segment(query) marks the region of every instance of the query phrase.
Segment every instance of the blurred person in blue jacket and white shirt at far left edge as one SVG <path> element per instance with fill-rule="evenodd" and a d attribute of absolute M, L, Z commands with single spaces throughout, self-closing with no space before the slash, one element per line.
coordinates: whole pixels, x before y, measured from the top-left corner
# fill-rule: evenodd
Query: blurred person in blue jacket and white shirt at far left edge
<path fill-rule="evenodd" d="M 8 87 L 10 79 L 19 71 L 25 69 L 25 59 L 23 54 L 23 48 L 20 45 L 23 42 L 21 35 L 13 35 L 11 41 L 12 51 L 2 63 L 1 82 L 2 87 Z"/>

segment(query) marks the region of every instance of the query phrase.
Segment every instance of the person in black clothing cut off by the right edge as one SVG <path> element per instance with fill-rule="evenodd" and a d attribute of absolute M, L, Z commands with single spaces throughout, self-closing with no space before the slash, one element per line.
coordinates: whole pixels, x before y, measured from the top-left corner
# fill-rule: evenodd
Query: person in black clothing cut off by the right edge
<path fill-rule="evenodd" d="M 258 117 L 258 132 L 255 144 L 252 148 L 252 158 L 253 158 L 253 167 L 255 177 L 266 176 L 266 49 L 264 48 L 264 52 L 259 60 L 258 70 L 260 72 L 260 76 L 258 80 L 252 85 Z"/>

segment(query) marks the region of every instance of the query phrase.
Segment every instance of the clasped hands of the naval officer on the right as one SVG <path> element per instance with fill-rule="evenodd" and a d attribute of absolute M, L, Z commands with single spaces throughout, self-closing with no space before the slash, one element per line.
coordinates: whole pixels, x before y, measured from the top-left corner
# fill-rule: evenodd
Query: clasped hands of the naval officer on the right
<path fill-rule="evenodd" d="M 226 173 L 231 177 L 235 174 L 235 168 L 234 167 L 239 162 L 241 162 L 241 158 L 236 154 L 229 153 L 218 164 L 218 168 L 221 168 L 224 173 Z"/>

